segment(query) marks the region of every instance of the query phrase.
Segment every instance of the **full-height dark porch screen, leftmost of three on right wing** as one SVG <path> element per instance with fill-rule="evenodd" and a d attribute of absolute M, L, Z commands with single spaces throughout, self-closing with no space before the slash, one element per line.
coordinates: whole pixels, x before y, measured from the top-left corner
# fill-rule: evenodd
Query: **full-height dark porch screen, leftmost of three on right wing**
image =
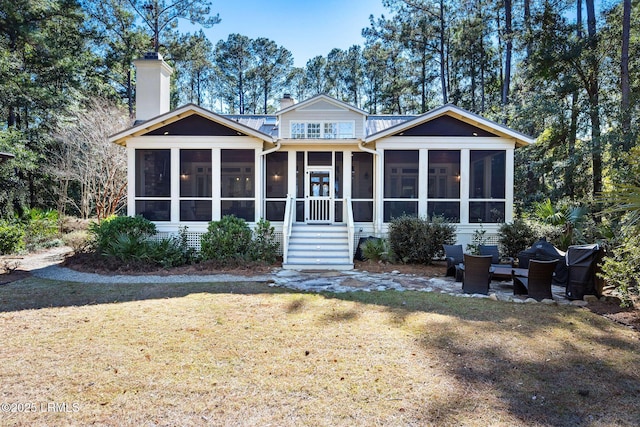
<path fill-rule="evenodd" d="M 402 215 L 418 215 L 417 150 L 384 152 L 384 221 Z"/>

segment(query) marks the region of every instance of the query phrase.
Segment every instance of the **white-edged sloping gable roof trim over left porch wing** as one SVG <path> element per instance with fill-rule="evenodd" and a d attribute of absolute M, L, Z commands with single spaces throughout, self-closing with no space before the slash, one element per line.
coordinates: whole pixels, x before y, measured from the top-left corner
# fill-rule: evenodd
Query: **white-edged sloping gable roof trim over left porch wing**
<path fill-rule="evenodd" d="M 109 137 L 109 141 L 119 145 L 124 145 L 127 138 L 130 138 L 133 136 L 146 135 L 150 132 L 153 132 L 156 129 L 159 129 L 163 126 L 167 126 L 171 123 L 178 122 L 192 115 L 198 115 L 206 120 L 210 120 L 212 122 L 215 122 L 217 124 L 230 128 L 236 131 L 238 134 L 253 136 L 255 138 L 258 138 L 270 143 L 275 143 L 276 141 L 275 137 L 269 134 L 260 132 L 259 130 L 253 127 L 247 126 L 243 124 L 240 120 L 233 120 L 233 119 L 227 118 L 220 114 L 216 114 L 214 112 L 206 110 L 195 104 L 187 104 L 176 110 L 154 117 L 145 122 L 134 124 L 129 129 L 125 129 L 121 132 L 111 135 Z"/>

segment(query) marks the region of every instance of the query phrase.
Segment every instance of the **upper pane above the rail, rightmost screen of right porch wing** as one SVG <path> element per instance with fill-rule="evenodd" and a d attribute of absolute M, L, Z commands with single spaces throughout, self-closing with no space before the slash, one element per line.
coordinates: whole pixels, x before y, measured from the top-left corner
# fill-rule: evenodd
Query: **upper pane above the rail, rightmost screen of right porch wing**
<path fill-rule="evenodd" d="M 471 151 L 470 197 L 504 199 L 506 152 Z"/>

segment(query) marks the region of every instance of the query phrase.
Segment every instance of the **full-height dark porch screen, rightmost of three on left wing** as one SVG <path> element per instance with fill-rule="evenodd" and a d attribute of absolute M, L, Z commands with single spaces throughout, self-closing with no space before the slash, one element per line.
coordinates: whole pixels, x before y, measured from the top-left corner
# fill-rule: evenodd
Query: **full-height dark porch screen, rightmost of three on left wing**
<path fill-rule="evenodd" d="M 221 150 L 221 213 L 255 221 L 255 151 Z"/>

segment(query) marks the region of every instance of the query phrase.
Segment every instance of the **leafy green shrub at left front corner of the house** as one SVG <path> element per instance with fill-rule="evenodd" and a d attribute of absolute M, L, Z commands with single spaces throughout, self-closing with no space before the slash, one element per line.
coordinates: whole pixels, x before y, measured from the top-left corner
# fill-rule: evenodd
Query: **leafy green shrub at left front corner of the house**
<path fill-rule="evenodd" d="M 155 235 L 156 226 L 141 216 L 113 216 L 99 223 L 90 224 L 89 234 L 93 238 L 96 251 L 102 253 L 112 244 L 136 245 L 140 241 Z M 127 237 L 120 239 L 121 235 Z M 120 243 L 116 243 L 118 239 L 120 239 Z"/>

